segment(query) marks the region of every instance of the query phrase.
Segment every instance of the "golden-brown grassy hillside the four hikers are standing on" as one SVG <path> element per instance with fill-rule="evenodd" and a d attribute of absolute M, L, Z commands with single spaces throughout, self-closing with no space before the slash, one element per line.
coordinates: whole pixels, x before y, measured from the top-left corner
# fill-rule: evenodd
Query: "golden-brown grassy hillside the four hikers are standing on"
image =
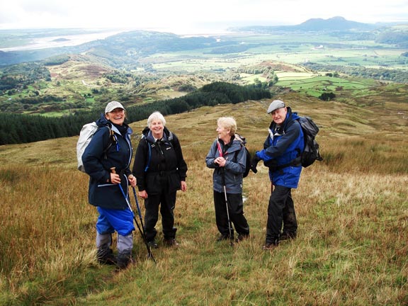
<path fill-rule="evenodd" d="M 181 245 L 159 243 L 154 264 L 135 232 L 135 263 L 119 273 L 94 260 L 97 215 L 76 170 L 77 137 L 0 147 L 0 305 L 407 305 L 408 104 L 390 93 L 365 108 L 279 98 L 321 127 L 324 162 L 304 169 L 293 191 L 297 239 L 271 252 L 261 250 L 267 169 L 244 180 L 251 237 L 231 247 L 215 242 L 204 162 L 222 115 L 261 149 L 271 101 L 166 118 L 189 168 L 175 211 Z M 145 121 L 131 126 L 138 135 Z"/>

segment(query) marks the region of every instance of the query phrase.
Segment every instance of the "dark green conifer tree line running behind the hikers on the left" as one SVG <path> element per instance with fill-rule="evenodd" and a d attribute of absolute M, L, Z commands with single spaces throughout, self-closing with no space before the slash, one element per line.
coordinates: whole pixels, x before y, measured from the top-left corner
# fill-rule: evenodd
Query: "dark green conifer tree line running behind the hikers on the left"
<path fill-rule="evenodd" d="M 253 85 L 239 86 L 227 82 L 214 82 L 193 91 L 186 96 L 159 100 L 139 106 L 125 106 L 127 123 L 144 120 L 154 111 L 171 115 L 191 111 L 201 106 L 215 106 L 225 103 L 239 103 L 247 100 L 271 98 L 268 89 Z M 77 111 L 61 118 L 42 115 L 0 113 L 0 145 L 37 142 L 58 137 L 79 135 L 82 125 L 97 120 L 103 109 Z"/>

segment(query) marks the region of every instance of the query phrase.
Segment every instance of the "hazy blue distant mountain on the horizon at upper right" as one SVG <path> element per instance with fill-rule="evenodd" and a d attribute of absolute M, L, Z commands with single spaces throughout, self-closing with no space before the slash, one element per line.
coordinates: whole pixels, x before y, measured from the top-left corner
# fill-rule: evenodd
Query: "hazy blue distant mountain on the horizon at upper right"
<path fill-rule="evenodd" d="M 333 17 L 329 19 L 312 18 L 296 26 L 246 26 L 242 28 L 233 28 L 234 31 L 251 32 L 272 32 L 272 31 L 349 31 L 349 30 L 374 30 L 381 25 L 370 23 L 359 23 L 348 21 L 344 17 Z M 383 25 L 382 25 L 383 26 Z"/>

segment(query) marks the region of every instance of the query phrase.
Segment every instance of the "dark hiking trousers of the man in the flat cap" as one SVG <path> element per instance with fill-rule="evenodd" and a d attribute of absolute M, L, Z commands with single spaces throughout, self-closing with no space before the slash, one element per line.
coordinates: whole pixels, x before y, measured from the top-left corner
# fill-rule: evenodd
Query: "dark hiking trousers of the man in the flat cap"
<path fill-rule="evenodd" d="M 268 205 L 268 221 L 266 222 L 266 244 L 278 244 L 280 230 L 288 233 L 297 231 L 295 205 L 292 199 L 292 189 L 275 186 Z"/>

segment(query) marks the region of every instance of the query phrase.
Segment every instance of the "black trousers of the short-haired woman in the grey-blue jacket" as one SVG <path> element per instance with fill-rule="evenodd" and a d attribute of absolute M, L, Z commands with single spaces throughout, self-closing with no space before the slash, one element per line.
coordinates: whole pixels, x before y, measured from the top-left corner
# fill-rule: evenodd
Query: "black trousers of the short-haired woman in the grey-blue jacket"
<path fill-rule="evenodd" d="M 238 234 L 248 235 L 249 225 L 244 217 L 244 203 L 242 202 L 242 193 L 227 193 L 227 203 L 229 220 L 234 224 L 235 231 Z M 231 223 L 228 223 L 227 204 L 225 203 L 225 194 L 214 191 L 215 222 L 218 231 L 229 237 L 229 228 L 231 228 L 232 237 L 234 229 Z"/>

